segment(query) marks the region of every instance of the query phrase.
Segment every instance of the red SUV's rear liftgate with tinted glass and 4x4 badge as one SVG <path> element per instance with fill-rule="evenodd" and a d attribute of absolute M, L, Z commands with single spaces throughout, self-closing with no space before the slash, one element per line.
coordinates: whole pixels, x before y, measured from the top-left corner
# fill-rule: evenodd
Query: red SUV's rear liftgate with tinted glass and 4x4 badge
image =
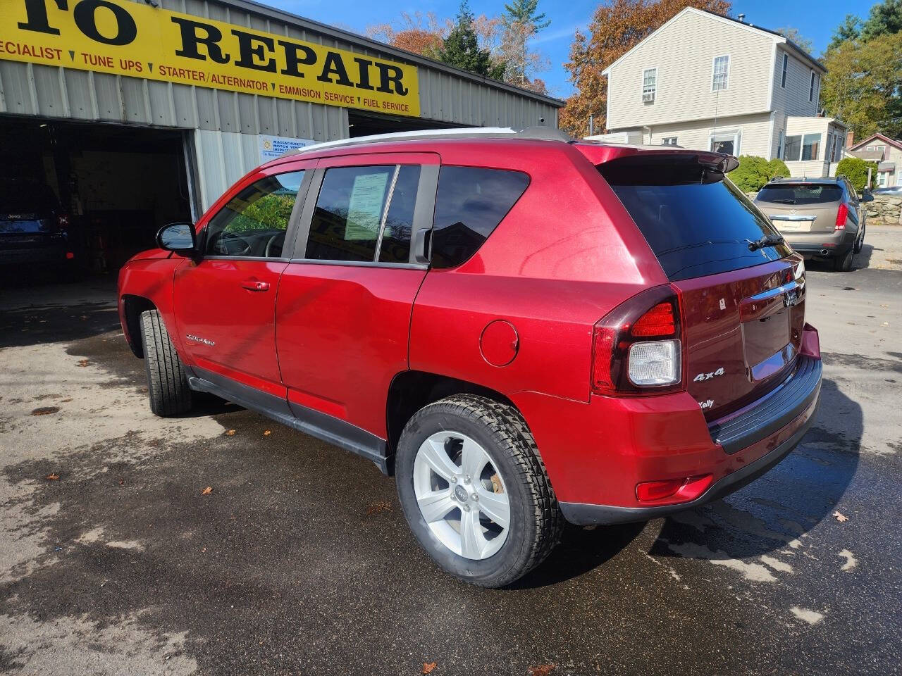
<path fill-rule="evenodd" d="M 654 162 L 654 164 L 649 164 Z M 805 317 L 801 259 L 723 174 L 694 156 L 599 165 L 672 285 L 685 324 L 688 391 L 708 419 L 762 396 L 796 361 Z"/>

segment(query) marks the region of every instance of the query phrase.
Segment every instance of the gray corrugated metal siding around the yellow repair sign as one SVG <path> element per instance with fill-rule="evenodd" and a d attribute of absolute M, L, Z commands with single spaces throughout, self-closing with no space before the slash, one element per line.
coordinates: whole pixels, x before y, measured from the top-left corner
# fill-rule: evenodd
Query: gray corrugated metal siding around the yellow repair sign
<path fill-rule="evenodd" d="M 2 2 L 3 0 L 0 0 Z M 134 0 L 143 2 L 143 0 Z M 161 0 L 164 9 L 284 34 L 365 55 L 397 56 L 207 0 Z M 557 127 L 557 107 L 500 87 L 419 68 L 423 118 L 473 126 Z M 201 209 L 260 163 L 258 134 L 332 141 L 348 135 L 348 110 L 334 105 L 226 92 L 106 73 L 0 60 L 0 113 L 197 130 Z"/>

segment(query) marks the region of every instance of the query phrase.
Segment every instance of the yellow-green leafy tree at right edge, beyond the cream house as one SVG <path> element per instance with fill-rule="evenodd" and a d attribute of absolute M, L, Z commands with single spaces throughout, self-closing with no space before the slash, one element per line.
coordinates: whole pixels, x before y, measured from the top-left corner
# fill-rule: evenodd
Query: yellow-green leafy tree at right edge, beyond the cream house
<path fill-rule="evenodd" d="M 844 41 L 824 54 L 821 105 L 858 138 L 902 134 L 902 32 Z"/>

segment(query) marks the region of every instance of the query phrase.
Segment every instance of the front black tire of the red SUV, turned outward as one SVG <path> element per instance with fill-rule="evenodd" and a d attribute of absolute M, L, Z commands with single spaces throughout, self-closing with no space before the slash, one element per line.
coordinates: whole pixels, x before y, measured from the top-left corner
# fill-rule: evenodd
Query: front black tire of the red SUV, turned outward
<path fill-rule="evenodd" d="M 141 313 L 141 342 L 147 394 L 156 416 L 178 416 L 191 409 L 188 375 L 172 346 L 169 332 L 157 310 Z"/>

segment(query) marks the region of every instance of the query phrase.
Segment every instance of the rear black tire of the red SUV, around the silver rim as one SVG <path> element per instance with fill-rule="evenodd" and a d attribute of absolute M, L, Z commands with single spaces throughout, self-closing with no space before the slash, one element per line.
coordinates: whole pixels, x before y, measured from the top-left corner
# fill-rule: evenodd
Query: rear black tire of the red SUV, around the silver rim
<path fill-rule="evenodd" d="M 442 544 L 417 503 L 417 452 L 430 435 L 443 431 L 465 434 L 482 445 L 504 477 L 511 508 L 508 534 L 501 549 L 482 560 L 467 559 Z M 491 588 L 511 584 L 544 561 L 560 539 L 564 517 L 536 442 L 514 407 L 486 397 L 455 395 L 421 408 L 401 433 L 395 467 L 400 505 L 419 544 L 460 580 Z"/>

